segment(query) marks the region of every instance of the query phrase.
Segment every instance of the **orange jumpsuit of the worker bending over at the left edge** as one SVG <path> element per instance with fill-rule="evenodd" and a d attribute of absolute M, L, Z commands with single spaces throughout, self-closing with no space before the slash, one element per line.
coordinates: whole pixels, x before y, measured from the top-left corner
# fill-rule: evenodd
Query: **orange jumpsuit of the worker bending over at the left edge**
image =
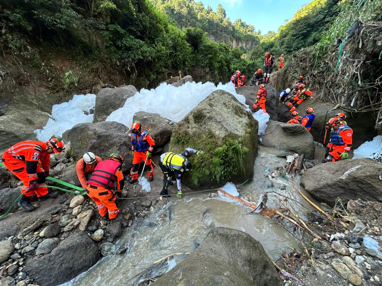
<path fill-rule="evenodd" d="M 36 193 L 37 197 L 41 197 L 48 193 L 46 187 L 29 190 L 29 186 L 36 182 L 39 186 L 46 186 L 44 172 L 49 172 L 50 167 L 50 154 L 46 153 L 46 150 L 47 143 L 29 140 L 16 143 L 3 154 L 2 161 L 5 167 L 23 181 L 21 192 L 24 196 L 31 197 Z"/>

